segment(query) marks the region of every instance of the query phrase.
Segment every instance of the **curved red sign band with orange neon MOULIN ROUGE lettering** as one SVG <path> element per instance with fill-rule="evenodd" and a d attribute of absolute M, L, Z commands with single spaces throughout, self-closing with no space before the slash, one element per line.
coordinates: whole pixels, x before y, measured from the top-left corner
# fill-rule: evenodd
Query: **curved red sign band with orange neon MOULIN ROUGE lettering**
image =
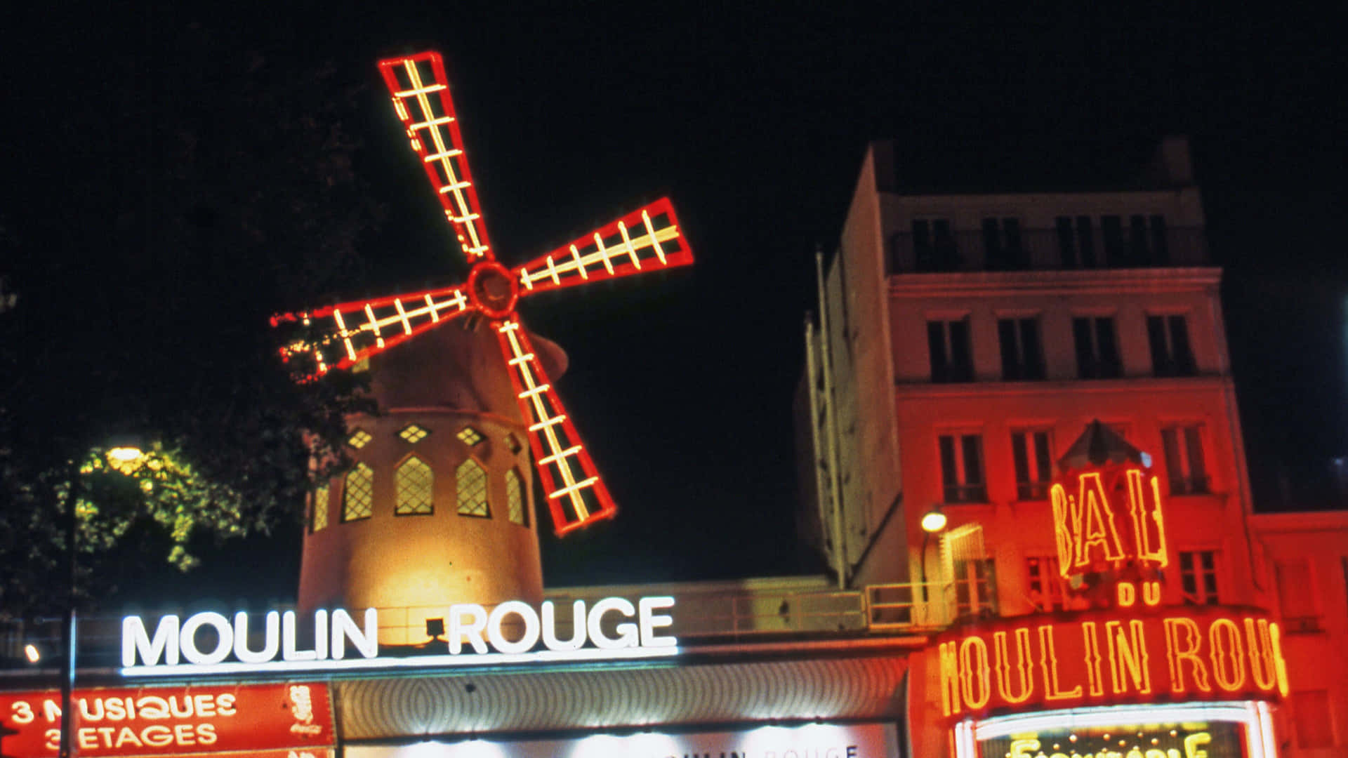
<path fill-rule="evenodd" d="M 952 719 L 1287 695 L 1278 624 L 1244 608 L 1020 616 L 950 630 L 929 655 Z"/>

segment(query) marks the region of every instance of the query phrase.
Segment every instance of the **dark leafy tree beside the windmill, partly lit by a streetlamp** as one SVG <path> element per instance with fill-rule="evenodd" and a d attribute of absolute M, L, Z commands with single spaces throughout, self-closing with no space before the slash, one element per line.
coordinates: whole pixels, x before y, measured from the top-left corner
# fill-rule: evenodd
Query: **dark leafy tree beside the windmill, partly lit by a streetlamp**
<path fill-rule="evenodd" d="M 74 471 L 98 595 L 119 540 L 189 568 L 194 534 L 298 518 L 310 444 L 340 460 L 368 409 L 348 375 L 294 382 L 267 326 L 360 278 L 361 86 L 200 24 L 131 50 L 51 59 L 69 86 L 26 93 L 50 128 L 12 156 L 35 181 L 0 197 L 0 615 L 62 597 Z M 155 445 L 132 475 L 100 455 L 125 433 Z"/>

